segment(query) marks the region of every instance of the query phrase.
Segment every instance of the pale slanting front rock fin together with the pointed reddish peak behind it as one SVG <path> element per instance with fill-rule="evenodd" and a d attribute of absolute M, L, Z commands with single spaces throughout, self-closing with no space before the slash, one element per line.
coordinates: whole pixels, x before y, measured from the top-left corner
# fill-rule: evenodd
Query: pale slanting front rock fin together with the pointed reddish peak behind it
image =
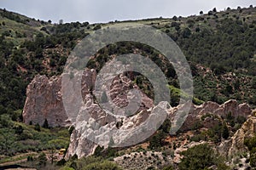
<path fill-rule="evenodd" d="M 124 147 L 143 142 L 156 131 L 157 126 L 160 126 L 162 122 L 159 120 L 165 120 L 166 110 L 171 107 L 166 102 L 160 102 L 159 105 L 154 106 L 153 100 L 143 94 L 137 85 L 123 74 L 116 77 L 103 74 L 102 77 L 99 75 L 98 77 L 110 84 L 109 89 L 105 83 L 99 88 L 111 99 L 112 103 L 109 104 L 111 107 L 109 109 L 109 105 L 106 108 L 102 107 L 105 102 L 100 101 L 101 104 L 99 104 L 95 99 L 96 96 L 99 100 L 108 100 L 102 99 L 102 94 L 97 94 L 97 86 L 91 90 L 90 85 L 82 81 L 84 105 L 79 108 L 73 123 L 75 129 L 67 150 L 67 158 L 74 154 L 79 157 L 89 156 L 93 154 L 98 144 L 106 148 L 108 146 Z M 96 85 L 99 84 L 96 83 Z M 137 100 L 137 96 L 130 93 L 131 89 L 136 89 L 141 99 Z M 129 106 L 128 110 L 123 109 L 126 106 Z M 130 111 L 129 109 L 134 108 L 137 108 L 135 112 L 131 111 L 132 114 L 125 115 Z"/>

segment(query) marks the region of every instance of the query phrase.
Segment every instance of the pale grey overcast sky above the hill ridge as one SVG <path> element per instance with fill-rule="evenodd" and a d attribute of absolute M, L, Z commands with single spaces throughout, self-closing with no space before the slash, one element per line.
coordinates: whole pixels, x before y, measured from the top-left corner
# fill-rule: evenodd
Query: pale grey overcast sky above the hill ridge
<path fill-rule="evenodd" d="M 216 7 L 256 6 L 255 0 L 0 0 L 0 8 L 39 20 L 58 22 L 138 20 L 189 16 Z"/>

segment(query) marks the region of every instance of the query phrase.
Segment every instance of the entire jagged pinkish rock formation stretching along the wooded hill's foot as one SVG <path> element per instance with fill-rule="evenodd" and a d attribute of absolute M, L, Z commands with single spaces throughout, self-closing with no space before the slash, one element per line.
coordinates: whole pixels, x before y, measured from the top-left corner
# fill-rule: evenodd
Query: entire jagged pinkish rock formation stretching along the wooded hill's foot
<path fill-rule="evenodd" d="M 62 77 L 45 77 L 36 76 L 28 85 L 26 91 L 26 105 L 23 111 L 24 122 L 39 123 L 42 125 L 47 119 L 49 126 L 70 126 L 75 127 L 71 135 L 71 143 L 67 150 L 67 157 L 74 154 L 81 156 L 91 155 L 98 144 L 108 147 L 109 145 L 126 146 L 129 144 L 137 144 L 137 141 L 147 139 L 157 129 L 158 122 L 162 118 L 169 116 L 172 125 L 179 120 L 175 119 L 178 110 L 183 110 L 186 105 L 178 105 L 172 108 L 166 102 L 160 102 L 154 105 L 152 99 L 134 84 L 128 77 L 123 74 L 113 78 L 110 90 L 106 90 L 112 105 L 119 108 L 129 105 L 129 101 L 134 98 L 133 94 L 129 94 L 131 88 L 137 89 L 141 94 L 141 103 L 139 103 L 136 114 L 118 117 L 114 116 L 111 111 L 102 109 L 102 105 L 95 98 L 96 92 L 94 84 L 96 81 L 96 71 L 86 69 L 81 81 L 81 94 L 84 105 L 78 108 L 74 117 L 75 122 L 71 121 L 64 109 L 61 94 L 61 78 Z M 107 77 L 108 78 L 108 77 Z M 64 84 L 64 88 L 70 84 Z M 71 84 L 72 85 L 72 84 Z M 73 85 L 72 85 L 73 86 Z M 63 88 L 63 87 L 62 87 Z M 68 102 L 76 100 L 76 94 L 69 92 Z M 135 106 L 137 103 L 135 103 Z M 112 112 L 119 112 L 114 110 Z M 162 114 L 162 113 L 165 113 Z M 158 114 L 161 113 L 161 114 Z M 208 113 L 215 116 L 206 116 Z M 225 117 L 228 113 L 232 116 L 248 117 L 252 110 L 247 104 L 238 104 L 236 100 L 229 100 L 223 105 L 214 102 L 206 102 L 203 105 L 192 105 L 189 114 L 184 116 L 180 131 L 191 130 L 195 124 L 201 121 L 203 127 L 212 127 L 218 123 L 218 117 Z M 202 120 L 201 117 L 205 116 Z M 253 118 L 241 127 L 240 130 L 230 140 L 225 140 L 219 145 L 219 150 L 227 150 L 228 155 L 234 154 L 236 150 L 245 150 L 243 139 L 245 136 L 254 132 Z"/>

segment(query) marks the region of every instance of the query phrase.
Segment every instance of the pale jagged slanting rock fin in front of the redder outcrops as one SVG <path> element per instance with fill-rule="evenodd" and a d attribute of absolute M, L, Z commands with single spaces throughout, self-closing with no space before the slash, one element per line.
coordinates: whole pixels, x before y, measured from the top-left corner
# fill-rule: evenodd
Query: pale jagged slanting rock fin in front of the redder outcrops
<path fill-rule="evenodd" d="M 96 110 L 96 113 L 91 114 L 90 118 L 86 117 L 84 110 L 88 108 L 84 107 L 79 112 L 74 125 L 75 130 L 71 136 L 66 157 L 74 154 L 79 157 L 89 156 L 94 153 L 98 144 L 106 148 L 108 146 L 125 147 L 143 142 L 162 123 L 158 120 L 160 115 L 165 115 L 159 113 L 164 113 L 169 107 L 167 103 L 162 102 L 151 109 L 140 111 L 136 115 L 121 120 L 117 120 L 100 108 Z M 165 120 L 165 117 L 161 120 Z M 119 122 L 121 122 L 120 126 L 118 126 Z"/>

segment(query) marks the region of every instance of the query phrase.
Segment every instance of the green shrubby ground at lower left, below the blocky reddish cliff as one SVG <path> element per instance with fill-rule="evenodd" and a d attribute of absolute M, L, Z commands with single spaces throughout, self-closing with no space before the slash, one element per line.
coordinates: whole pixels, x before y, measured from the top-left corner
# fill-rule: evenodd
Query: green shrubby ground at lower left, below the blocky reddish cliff
<path fill-rule="evenodd" d="M 17 153 L 67 148 L 67 128 L 44 128 L 14 122 L 7 114 L 0 116 L 0 155 L 15 156 Z"/>

